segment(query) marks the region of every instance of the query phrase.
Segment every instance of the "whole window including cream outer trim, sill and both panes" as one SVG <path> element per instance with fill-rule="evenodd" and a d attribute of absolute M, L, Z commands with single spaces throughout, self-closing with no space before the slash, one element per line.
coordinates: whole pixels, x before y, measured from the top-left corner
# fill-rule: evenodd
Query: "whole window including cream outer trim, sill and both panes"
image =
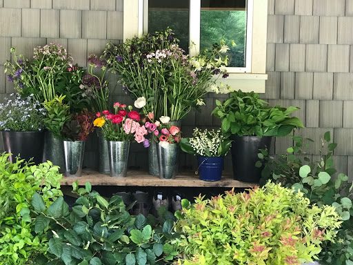
<path fill-rule="evenodd" d="M 196 43 L 191 55 L 213 39 L 234 40 L 224 83 L 265 92 L 267 19 L 268 0 L 123 0 L 123 39 L 170 26 L 185 50 Z"/>

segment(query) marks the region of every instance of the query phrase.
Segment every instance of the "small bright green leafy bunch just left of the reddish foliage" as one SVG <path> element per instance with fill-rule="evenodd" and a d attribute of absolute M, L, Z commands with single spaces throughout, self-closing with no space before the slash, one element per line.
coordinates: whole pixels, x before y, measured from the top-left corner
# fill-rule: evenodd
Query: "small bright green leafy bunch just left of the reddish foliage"
<path fill-rule="evenodd" d="M 55 97 L 44 104 L 48 112 L 47 117 L 44 119 L 44 124 L 54 137 L 59 139 L 62 138 L 61 130 L 63 130 L 63 125 L 71 118 L 70 106 L 64 104 L 63 99 L 65 99 L 65 96 Z"/>

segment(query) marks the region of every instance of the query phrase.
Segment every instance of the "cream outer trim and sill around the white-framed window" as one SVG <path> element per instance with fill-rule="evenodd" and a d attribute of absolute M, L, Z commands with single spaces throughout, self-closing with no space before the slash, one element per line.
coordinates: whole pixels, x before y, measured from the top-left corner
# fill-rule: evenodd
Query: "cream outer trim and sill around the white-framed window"
<path fill-rule="evenodd" d="M 247 72 L 233 72 L 230 69 L 230 77 L 222 79 L 223 83 L 229 84 L 234 90 L 265 92 L 266 75 L 266 45 L 267 45 L 267 19 L 268 19 L 268 0 L 249 0 L 253 4 L 252 20 L 248 19 L 248 26 L 252 24 L 251 33 L 249 29 L 248 37 L 251 38 L 251 69 Z M 200 0 L 190 1 L 192 5 L 200 3 Z M 248 3 L 248 4 L 249 4 Z M 147 7 L 148 8 L 148 7 Z M 141 36 L 146 32 L 147 23 L 143 23 L 143 12 L 148 12 L 143 0 L 123 0 L 123 39 L 134 36 Z M 249 16 L 250 17 L 250 16 Z M 146 18 L 145 18 L 146 19 Z M 147 22 L 147 21 L 146 21 Z M 190 19 L 190 24 L 192 23 Z M 194 26 L 191 31 L 196 31 Z M 195 32 L 193 33 L 195 34 Z M 190 38 L 192 40 L 192 38 Z M 248 41 L 248 40 L 247 40 Z M 248 62 L 247 62 L 248 66 Z"/>

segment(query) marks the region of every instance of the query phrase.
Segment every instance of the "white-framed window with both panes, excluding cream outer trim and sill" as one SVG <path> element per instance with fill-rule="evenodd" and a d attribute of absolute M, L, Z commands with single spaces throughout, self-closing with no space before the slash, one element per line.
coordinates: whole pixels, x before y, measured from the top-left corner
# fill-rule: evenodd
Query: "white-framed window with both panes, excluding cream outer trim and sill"
<path fill-rule="evenodd" d="M 168 26 L 193 54 L 221 39 L 230 47 L 229 72 L 250 72 L 252 0 L 144 0 L 144 32 Z M 195 43 L 196 47 L 190 47 Z"/>

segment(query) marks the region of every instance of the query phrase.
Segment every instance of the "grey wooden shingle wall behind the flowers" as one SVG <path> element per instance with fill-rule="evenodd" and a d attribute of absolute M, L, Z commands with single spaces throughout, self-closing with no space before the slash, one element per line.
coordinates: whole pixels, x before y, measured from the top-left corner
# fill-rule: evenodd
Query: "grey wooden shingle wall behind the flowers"
<path fill-rule="evenodd" d="M 330 130 L 339 144 L 336 165 L 353 177 L 353 0 L 268 0 L 268 81 L 262 97 L 270 104 L 299 106 L 296 113 L 305 128 L 298 133 L 315 140 L 310 153 L 316 157 L 320 137 Z M 0 64 L 10 59 L 10 47 L 31 56 L 34 46 L 61 43 L 81 66 L 103 50 L 107 41 L 123 38 L 122 0 L 0 0 Z M 110 77 L 112 100 L 131 102 Z M 0 66 L 0 98 L 13 91 Z M 185 135 L 195 126 L 219 126 L 210 118 L 216 95 L 207 107 L 183 121 Z M 275 153 L 292 143 L 276 139 Z M 1 147 L 1 146 L 0 146 Z M 130 166 L 146 168 L 143 147 L 134 145 Z M 181 164 L 194 165 L 183 155 Z M 91 137 L 85 165 L 97 166 L 97 139 Z M 230 158 L 226 170 L 230 170 Z"/>

